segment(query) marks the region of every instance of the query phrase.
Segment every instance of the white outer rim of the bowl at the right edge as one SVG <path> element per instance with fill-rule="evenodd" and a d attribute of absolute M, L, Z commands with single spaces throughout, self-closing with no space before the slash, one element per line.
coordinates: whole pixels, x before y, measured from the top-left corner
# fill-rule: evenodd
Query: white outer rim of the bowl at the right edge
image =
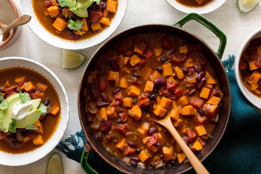
<path fill-rule="evenodd" d="M 251 103 L 253 104 L 255 107 L 261 109 L 261 99 L 260 99 L 260 105 L 258 105 L 256 102 L 254 102 L 249 95 L 247 95 L 247 93 L 245 92 L 242 83 L 241 83 L 241 78 L 239 77 L 239 70 L 238 70 L 238 66 L 239 66 L 239 61 L 240 61 L 240 57 L 242 55 L 242 52 L 244 51 L 247 43 L 259 32 L 261 32 L 261 28 L 255 30 L 249 37 L 247 37 L 245 39 L 245 41 L 241 44 L 241 46 L 238 49 L 237 55 L 236 55 L 236 59 L 235 59 L 235 64 L 234 64 L 234 73 L 235 73 L 235 79 L 236 82 L 238 84 L 238 87 L 240 88 L 241 93 L 244 95 L 244 97 Z"/>

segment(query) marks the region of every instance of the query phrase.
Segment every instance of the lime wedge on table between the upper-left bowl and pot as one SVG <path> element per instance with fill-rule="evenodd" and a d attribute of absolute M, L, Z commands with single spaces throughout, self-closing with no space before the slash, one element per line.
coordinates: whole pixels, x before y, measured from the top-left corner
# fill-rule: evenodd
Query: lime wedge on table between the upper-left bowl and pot
<path fill-rule="evenodd" d="M 86 60 L 85 55 L 72 51 L 72 50 L 62 50 L 61 54 L 61 64 L 64 69 L 76 69 L 79 68 Z"/>

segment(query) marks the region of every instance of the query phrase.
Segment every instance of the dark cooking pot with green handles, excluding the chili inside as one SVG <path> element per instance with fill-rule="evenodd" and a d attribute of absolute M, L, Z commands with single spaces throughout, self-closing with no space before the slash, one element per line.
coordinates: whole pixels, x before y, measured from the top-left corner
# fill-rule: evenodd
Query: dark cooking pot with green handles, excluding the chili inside
<path fill-rule="evenodd" d="M 218 53 L 215 53 L 202 39 L 200 39 L 198 36 L 184 30 L 181 28 L 181 26 L 189 21 L 190 19 L 195 19 L 199 21 L 200 23 L 203 23 L 207 28 L 210 28 L 218 37 L 220 38 L 220 48 Z M 231 107 L 231 94 L 230 94 L 230 86 L 229 86 L 229 80 L 226 75 L 226 71 L 224 69 L 224 66 L 222 62 L 220 61 L 220 57 L 222 57 L 224 52 L 224 47 L 226 45 L 226 36 L 224 33 L 217 28 L 213 23 L 208 21 L 206 18 L 202 17 L 199 14 L 191 13 L 186 15 L 184 18 L 182 18 L 180 21 L 175 23 L 175 25 L 143 25 L 134 27 L 128 30 L 125 30 L 123 32 L 120 32 L 119 34 L 115 35 L 114 37 L 110 38 L 108 41 L 106 41 L 93 55 L 93 57 L 88 62 L 81 82 L 79 86 L 79 93 L 78 93 L 78 113 L 79 118 L 81 122 L 81 127 L 84 131 L 85 137 L 90 144 L 90 147 L 99 154 L 100 157 L 104 161 L 106 161 L 108 164 L 116 168 L 117 170 L 123 172 L 123 173 L 132 173 L 132 174 L 140 174 L 140 173 L 150 173 L 150 174 L 167 174 L 167 173 L 183 173 L 185 171 L 188 171 L 191 169 L 191 164 L 185 163 L 185 164 L 177 164 L 174 166 L 167 166 L 165 168 L 146 168 L 142 169 L 139 167 L 132 167 L 128 166 L 125 162 L 117 158 L 116 156 L 110 154 L 106 151 L 106 148 L 95 138 L 95 134 L 93 130 L 90 128 L 90 124 L 88 122 L 88 113 L 86 113 L 85 110 L 85 97 L 84 97 L 84 89 L 87 87 L 87 79 L 88 74 L 90 70 L 93 68 L 93 65 L 96 64 L 96 62 L 99 60 L 101 55 L 108 49 L 110 46 L 117 43 L 122 38 L 137 35 L 141 33 L 146 32 L 164 32 L 166 34 L 170 35 L 179 35 L 182 36 L 183 39 L 186 39 L 190 41 L 193 44 L 198 44 L 202 48 L 202 52 L 204 55 L 208 58 L 208 61 L 213 66 L 218 81 L 220 84 L 220 89 L 222 93 L 224 94 L 222 98 L 222 106 L 220 108 L 220 117 L 216 124 L 216 127 L 214 128 L 214 131 L 210 137 L 210 139 L 207 141 L 206 146 L 203 147 L 203 150 L 200 152 L 195 153 L 197 158 L 202 161 L 204 160 L 217 146 L 219 143 L 222 135 L 224 134 L 226 125 L 228 123 L 229 114 L 230 114 L 230 107 Z M 218 56 L 219 55 L 219 56 Z M 90 150 L 89 146 L 86 146 L 86 152 Z M 88 153 L 87 153 L 88 155 Z M 83 155 L 84 156 L 84 155 Z M 83 158 L 82 158 L 83 159 Z M 88 164 L 86 164 L 87 160 L 82 160 L 82 166 L 84 166 L 84 170 L 88 171 L 90 170 L 90 167 Z"/>

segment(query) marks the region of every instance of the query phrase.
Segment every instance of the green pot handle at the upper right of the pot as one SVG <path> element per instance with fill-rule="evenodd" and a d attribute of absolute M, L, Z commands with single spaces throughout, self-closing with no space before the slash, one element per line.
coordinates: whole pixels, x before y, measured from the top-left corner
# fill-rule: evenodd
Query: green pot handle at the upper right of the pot
<path fill-rule="evenodd" d="M 180 20 L 178 20 L 173 25 L 177 27 L 182 27 L 186 22 L 190 21 L 191 19 L 194 19 L 195 21 L 198 21 L 199 23 L 203 24 L 206 28 L 211 30 L 219 38 L 220 44 L 218 47 L 217 55 L 220 59 L 222 59 L 226 47 L 226 35 L 214 23 L 212 23 L 205 17 L 201 16 L 200 14 L 189 13 L 185 15 L 183 18 L 181 18 Z"/>

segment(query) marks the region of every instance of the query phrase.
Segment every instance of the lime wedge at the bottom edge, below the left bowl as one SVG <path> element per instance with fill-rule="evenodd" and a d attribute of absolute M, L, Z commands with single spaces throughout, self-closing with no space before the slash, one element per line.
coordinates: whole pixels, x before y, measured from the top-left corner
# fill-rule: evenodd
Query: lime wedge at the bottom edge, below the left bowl
<path fill-rule="evenodd" d="M 64 168 L 61 161 L 61 156 L 55 152 L 49 158 L 47 166 L 47 174 L 63 174 Z"/>

